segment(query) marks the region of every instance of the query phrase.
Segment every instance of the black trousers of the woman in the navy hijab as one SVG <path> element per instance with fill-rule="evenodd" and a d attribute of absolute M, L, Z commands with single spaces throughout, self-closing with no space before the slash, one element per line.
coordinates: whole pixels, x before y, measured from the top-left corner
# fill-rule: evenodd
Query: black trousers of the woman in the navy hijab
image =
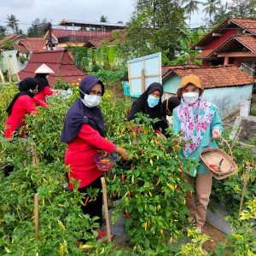
<path fill-rule="evenodd" d="M 90 183 L 89 185 L 80 188 L 79 192 L 86 193 L 88 192 L 88 189 L 100 189 L 98 195 L 96 196 L 95 201 L 90 201 L 90 198 L 85 205 L 82 205 L 82 210 L 84 214 L 89 214 L 90 218 L 93 218 L 95 216 L 99 217 L 99 219 L 96 220 L 97 223 L 102 224 L 102 182 L 101 177 L 98 177 L 95 181 Z M 84 197 L 84 201 L 86 201 L 87 195 Z"/>

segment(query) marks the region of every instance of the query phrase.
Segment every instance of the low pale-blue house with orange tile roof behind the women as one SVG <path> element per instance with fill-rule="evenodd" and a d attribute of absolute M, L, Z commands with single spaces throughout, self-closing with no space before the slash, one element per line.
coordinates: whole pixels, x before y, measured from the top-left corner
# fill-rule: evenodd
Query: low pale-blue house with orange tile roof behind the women
<path fill-rule="evenodd" d="M 253 78 L 231 65 L 215 67 L 174 66 L 162 75 L 164 97 L 176 95 L 183 77 L 195 74 L 201 79 L 205 91 L 203 98 L 218 107 L 222 118 L 240 109 L 241 101 L 251 100 Z"/>

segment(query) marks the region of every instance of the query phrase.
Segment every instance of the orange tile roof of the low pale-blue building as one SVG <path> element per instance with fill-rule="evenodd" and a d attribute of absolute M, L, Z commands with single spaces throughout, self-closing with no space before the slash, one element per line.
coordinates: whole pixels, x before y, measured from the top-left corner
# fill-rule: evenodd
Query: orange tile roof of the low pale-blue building
<path fill-rule="evenodd" d="M 176 73 L 181 78 L 189 74 L 195 74 L 201 79 L 205 88 L 241 86 L 253 83 L 252 78 L 247 73 L 242 72 L 235 66 L 175 69 L 172 73 Z"/>

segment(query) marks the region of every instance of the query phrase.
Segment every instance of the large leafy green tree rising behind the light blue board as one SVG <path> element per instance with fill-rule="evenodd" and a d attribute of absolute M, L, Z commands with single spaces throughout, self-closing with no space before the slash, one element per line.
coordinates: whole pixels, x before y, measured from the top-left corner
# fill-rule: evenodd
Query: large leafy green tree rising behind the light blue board
<path fill-rule="evenodd" d="M 164 63 L 172 60 L 180 46 L 179 28 L 184 27 L 184 20 L 177 0 L 138 0 L 127 23 L 124 55 L 131 58 L 160 51 Z"/>

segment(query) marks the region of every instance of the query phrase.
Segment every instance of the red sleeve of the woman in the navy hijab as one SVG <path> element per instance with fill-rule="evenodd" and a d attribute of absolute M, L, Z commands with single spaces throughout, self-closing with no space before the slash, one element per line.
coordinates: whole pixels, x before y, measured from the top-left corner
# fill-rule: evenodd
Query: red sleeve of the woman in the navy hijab
<path fill-rule="evenodd" d="M 90 145 L 107 151 L 108 153 L 113 153 L 116 148 L 115 144 L 110 143 L 88 124 L 82 125 L 82 128 L 79 131 L 79 137 L 87 143 L 90 143 Z"/>

